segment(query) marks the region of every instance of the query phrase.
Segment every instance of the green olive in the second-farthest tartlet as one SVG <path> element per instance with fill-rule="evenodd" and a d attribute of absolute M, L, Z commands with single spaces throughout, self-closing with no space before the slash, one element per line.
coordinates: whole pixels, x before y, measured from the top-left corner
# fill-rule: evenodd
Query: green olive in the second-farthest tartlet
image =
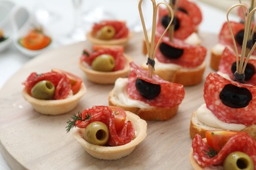
<path fill-rule="evenodd" d="M 108 55 L 102 54 L 95 58 L 92 63 L 92 68 L 95 71 L 112 71 L 115 67 L 115 59 Z"/>

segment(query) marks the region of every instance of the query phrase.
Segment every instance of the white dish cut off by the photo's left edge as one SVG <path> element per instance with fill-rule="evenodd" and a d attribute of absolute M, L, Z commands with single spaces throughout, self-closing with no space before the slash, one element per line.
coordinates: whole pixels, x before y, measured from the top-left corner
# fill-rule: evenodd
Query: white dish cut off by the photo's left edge
<path fill-rule="evenodd" d="M 11 14 L 14 6 L 11 1 L 0 1 L 0 28 L 3 29 L 3 35 L 7 38 L 0 42 L 0 52 L 7 49 L 12 42 L 14 29 L 11 24 Z"/>

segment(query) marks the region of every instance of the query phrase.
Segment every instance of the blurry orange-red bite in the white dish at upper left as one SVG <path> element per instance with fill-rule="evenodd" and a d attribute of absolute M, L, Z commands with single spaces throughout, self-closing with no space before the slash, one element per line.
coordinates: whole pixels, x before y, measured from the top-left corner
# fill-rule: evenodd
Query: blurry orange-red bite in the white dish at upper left
<path fill-rule="evenodd" d="M 18 39 L 18 42 L 28 50 L 41 50 L 51 44 L 51 37 L 45 35 L 41 27 L 31 29 L 27 35 Z"/>

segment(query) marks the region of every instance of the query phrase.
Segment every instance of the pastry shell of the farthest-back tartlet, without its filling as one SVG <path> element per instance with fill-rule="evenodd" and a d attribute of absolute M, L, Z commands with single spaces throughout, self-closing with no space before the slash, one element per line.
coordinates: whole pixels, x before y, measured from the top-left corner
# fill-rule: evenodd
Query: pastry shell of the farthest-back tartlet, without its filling
<path fill-rule="evenodd" d="M 129 32 L 129 35 L 126 38 L 123 39 L 114 39 L 114 40 L 101 40 L 96 39 L 93 37 L 92 31 L 88 32 L 86 35 L 88 41 L 90 41 L 92 44 L 95 45 L 119 45 L 119 46 L 126 46 L 127 42 L 131 37 L 133 37 L 133 33 L 131 31 Z"/>

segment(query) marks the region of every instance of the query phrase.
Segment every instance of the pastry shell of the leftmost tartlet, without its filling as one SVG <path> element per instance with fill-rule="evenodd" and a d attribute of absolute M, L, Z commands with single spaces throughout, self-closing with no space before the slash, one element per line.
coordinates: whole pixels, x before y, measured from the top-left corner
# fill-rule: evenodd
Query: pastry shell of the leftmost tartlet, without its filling
<path fill-rule="evenodd" d="M 58 114 L 64 114 L 66 112 L 69 112 L 73 110 L 81 97 L 86 92 L 85 84 L 81 84 L 81 88 L 79 92 L 77 92 L 75 95 L 72 95 L 71 97 L 68 97 L 66 99 L 60 99 L 60 100 L 41 100 L 41 99 L 35 99 L 32 97 L 29 93 L 27 88 L 24 88 L 22 90 L 22 95 L 26 101 L 28 101 L 33 109 L 35 109 L 37 112 L 41 114 L 47 114 L 47 115 L 58 115 Z"/>

